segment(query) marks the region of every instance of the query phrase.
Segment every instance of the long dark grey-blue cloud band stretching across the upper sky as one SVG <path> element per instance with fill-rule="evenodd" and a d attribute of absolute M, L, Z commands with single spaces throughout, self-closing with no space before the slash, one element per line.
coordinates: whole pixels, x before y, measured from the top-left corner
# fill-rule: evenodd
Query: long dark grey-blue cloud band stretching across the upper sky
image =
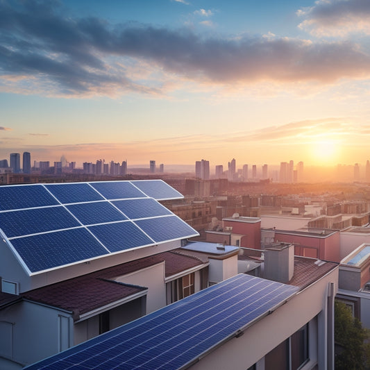
<path fill-rule="evenodd" d="M 0 71 L 26 76 L 54 94 L 158 93 L 128 72 L 127 58 L 153 68 L 219 84 L 319 81 L 370 74 L 370 57 L 350 42 L 267 37 L 205 39 L 188 30 L 110 25 L 64 15 L 53 1 L 0 2 Z"/>

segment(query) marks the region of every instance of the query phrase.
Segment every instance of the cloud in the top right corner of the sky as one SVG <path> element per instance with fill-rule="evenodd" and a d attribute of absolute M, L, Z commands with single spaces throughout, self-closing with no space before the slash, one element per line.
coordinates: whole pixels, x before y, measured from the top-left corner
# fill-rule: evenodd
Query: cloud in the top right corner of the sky
<path fill-rule="evenodd" d="M 318 36 L 370 35 L 370 1 L 319 0 L 297 12 L 304 20 L 299 27 Z"/>

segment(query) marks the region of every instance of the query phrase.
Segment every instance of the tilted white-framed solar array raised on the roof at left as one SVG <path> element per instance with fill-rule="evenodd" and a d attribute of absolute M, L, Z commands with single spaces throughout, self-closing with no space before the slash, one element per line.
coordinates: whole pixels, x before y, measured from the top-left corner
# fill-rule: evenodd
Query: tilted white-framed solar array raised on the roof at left
<path fill-rule="evenodd" d="M 32 275 L 198 235 L 158 203 L 180 197 L 162 180 L 2 186 L 1 235 Z"/>

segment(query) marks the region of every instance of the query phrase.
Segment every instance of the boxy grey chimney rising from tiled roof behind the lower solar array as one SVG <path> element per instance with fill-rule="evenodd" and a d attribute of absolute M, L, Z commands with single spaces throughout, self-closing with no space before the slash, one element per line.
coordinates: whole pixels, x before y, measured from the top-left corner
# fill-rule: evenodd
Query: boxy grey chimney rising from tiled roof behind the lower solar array
<path fill-rule="evenodd" d="M 264 249 L 264 278 L 288 283 L 294 274 L 294 245 L 275 243 Z"/>

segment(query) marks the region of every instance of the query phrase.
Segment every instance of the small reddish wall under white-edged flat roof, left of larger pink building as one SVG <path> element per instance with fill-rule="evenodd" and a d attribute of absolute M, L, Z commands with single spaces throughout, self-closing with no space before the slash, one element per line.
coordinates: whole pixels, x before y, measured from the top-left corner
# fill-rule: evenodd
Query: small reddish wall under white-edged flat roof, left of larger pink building
<path fill-rule="evenodd" d="M 244 222 L 230 220 L 223 220 L 224 221 L 224 228 L 232 227 L 233 234 L 241 234 L 244 235 L 241 240 L 241 245 L 246 248 L 255 248 L 260 249 L 261 246 L 261 222 Z"/>

